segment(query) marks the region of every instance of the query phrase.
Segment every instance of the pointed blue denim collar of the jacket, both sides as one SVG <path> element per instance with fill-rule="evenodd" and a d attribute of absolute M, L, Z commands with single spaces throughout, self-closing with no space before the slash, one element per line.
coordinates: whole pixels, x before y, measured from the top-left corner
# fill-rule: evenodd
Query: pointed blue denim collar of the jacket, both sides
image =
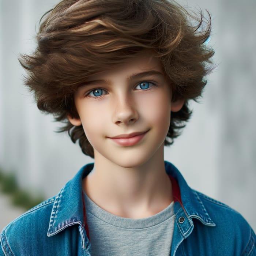
<path fill-rule="evenodd" d="M 86 177 L 92 169 L 93 163 L 83 166 L 75 177 L 68 181 L 56 196 L 50 216 L 47 236 L 54 236 L 66 227 L 75 224 L 82 227 L 86 226 L 82 196 L 82 179 Z M 197 192 L 189 188 L 178 169 L 169 162 L 165 162 L 165 169 L 166 173 L 172 176 L 173 188 L 175 188 L 175 191 L 173 191 L 175 202 L 174 212 L 176 213 L 177 221 L 180 217 L 185 217 L 185 221 L 187 221 L 188 224 L 190 223 L 190 225 L 187 225 L 188 230 L 193 226 L 192 218 L 199 219 L 204 225 L 215 226 L 215 223 L 208 215 Z M 184 237 L 186 237 L 186 234 L 191 233 L 188 232 L 188 230 L 184 230 Z"/>

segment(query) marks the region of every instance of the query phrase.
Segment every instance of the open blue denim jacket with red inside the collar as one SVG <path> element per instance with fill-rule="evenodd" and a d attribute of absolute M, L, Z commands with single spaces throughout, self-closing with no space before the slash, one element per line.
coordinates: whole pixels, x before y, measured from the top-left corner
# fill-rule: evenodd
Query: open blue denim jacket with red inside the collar
<path fill-rule="evenodd" d="M 54 196 L 27 211 L 0 235 L 2 255 L 90 255 L 82 179 L 93 164 Z M 256 255 L 255 233 L 236 211 L 189 188 L 180 172 L 165 162 L 176 214 L 171 255 Z M 161 255 L 161 252 L 159 252 Z"/>

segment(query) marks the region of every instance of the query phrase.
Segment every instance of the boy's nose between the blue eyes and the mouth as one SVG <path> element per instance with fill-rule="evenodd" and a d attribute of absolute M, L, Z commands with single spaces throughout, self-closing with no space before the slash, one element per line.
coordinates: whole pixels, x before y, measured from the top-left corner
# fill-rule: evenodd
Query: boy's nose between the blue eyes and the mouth
<path fill-rule="evenodd" d="M 113 122 L 117 125 L 133 124 L 139 118 L 135 102 L 132 100 L 132 97 L 129 94 L 117 97 L 114 100 L 113 109 Z"/>

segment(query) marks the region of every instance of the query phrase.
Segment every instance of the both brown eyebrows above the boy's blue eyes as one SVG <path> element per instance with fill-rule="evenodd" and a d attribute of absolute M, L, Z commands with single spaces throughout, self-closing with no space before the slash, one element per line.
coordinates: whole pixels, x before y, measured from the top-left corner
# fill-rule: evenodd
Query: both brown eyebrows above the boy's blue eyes
<path fill-rule="evenodd" d="M 138 78 L 143 78 L 145 76 L 161 76 L 163 77 L 164 75 L 162 72 L 156 71 L 156 70 L 150 70 L 150 71 L 145 71 L 145 72 L 139 72 L 139 73 L 133 73 L 129 76 L 127 76 L 127 80 L 134 80 Z M 111 84 L 111 82 L 108 79 L 96 79 L 96 80 L 90 80 L 86 81 L 82 84 L 82 87 L 84 86 L 89 86 L 93 84 Z"/>

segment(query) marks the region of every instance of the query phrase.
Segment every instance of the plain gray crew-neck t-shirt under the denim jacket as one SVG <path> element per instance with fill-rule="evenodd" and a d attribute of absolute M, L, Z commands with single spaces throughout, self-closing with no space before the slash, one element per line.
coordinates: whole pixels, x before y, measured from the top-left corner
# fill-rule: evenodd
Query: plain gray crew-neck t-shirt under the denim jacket
<path fill-rule="evenodd" d="M 92 256 L 170 255 L 174 228 L 174 203 L 148 218 L 113 215 L 85 193 Z"/>

